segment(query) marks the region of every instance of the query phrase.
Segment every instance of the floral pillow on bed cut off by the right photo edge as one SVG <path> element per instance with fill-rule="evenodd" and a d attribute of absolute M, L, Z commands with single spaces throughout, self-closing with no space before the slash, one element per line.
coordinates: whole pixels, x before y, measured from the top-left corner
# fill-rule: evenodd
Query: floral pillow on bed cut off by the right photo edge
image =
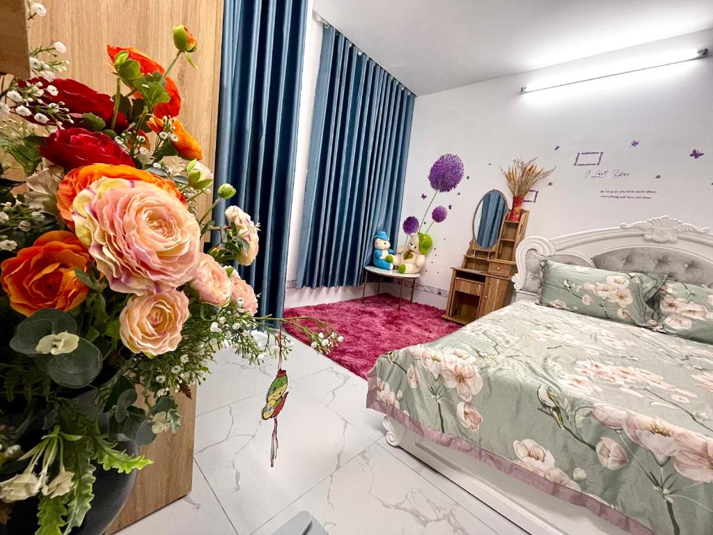
<path fill-rule="evenodd" d="M 657 304 L 665 332 L 713 344 L 713 288 L 667 279 Z"/>

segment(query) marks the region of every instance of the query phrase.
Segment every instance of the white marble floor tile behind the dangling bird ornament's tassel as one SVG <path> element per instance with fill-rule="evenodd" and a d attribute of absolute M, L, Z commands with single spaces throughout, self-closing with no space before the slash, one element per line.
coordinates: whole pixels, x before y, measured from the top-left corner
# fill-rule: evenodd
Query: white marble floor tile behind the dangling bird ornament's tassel
<path fill-rule="evenodd" d="M 265 394 L 260 393 L 196 419 L 195 459 L 241 535 L 373 442 L 292 383 L 278 417 L 279 450 L 275 468 L 270 468 L 273 422 L 260 418 L 263 404 Z"/>

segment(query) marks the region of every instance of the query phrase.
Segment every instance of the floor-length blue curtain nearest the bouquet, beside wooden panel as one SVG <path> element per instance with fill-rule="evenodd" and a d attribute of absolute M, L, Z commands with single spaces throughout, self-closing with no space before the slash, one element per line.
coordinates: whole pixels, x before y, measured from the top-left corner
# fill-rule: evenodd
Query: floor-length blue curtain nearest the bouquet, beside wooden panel
<path fill-rule="evenodd" d="M 282 315 L 307 0 L 225 0 L 215 190 L 230 183 L 260 224 L 260 254 L 240 275 L 260 314 Z M 215 208 L 225 222 L 227 203 Z"/>

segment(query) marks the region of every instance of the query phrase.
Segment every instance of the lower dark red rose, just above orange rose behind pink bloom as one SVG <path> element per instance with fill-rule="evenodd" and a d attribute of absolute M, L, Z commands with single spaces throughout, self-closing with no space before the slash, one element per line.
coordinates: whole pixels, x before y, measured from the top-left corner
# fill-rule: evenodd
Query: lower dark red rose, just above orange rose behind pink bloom
<path fill-rule="evenodd" d="M 65 169 L 74 169 L 91 163 L 130 165 L 136 167 L 131 157 L 112 139 L 101 132 L 84 128 L 57 130 L 45 138 L 40 154 Z"/>

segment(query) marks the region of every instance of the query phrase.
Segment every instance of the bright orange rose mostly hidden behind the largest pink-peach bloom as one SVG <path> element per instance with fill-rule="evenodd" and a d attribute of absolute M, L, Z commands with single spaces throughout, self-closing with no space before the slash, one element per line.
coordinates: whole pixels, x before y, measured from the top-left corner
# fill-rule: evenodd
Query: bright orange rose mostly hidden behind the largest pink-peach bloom
<path fill-rule="evenodd" d="M 186 203 L 183 193 L 176 187 L 173 180 L 160 178 L 148 171 L 135 169 L 129 165 L 108 165 L 106 163 L 93 163 L 71 170 L 65 175 L 57 188 L 57 210 L 64 222 L 74 228 L 72 219 L 72 203 L 81 190 L 86 188 L 100 178 L 128 178 L 130 180 L 142 180 L 154 185 L 158 185 L 162 190 L 168 191 L 178 198 L 183 204 Z"/>

